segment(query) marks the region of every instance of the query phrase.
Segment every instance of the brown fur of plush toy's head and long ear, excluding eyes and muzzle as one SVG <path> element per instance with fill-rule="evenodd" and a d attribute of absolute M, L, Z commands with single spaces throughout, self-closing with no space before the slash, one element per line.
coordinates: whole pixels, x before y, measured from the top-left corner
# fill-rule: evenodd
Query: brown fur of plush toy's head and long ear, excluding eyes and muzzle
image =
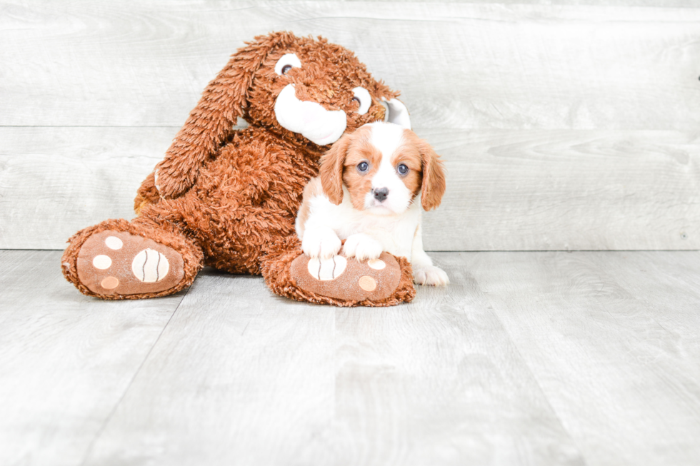
<path fill-rule="evenodd" d="M 351 103 L 352 89 L 364 85 L 376 101 L 365 115 L 347 112 L 349 132 L 364 123 L 384 118 L 384 106 L 379 99 L 398 96 L 381 81 L 375 81 L 353 52 L 329 44 L 321 37 L 315 41 L 311 37 L 279 32 L 256 36 L 246 44 L 206 86 L 164 160 L 156 166 L 161 196 L 174 198 L 194 185 L 199 168 L 231 135 L 239 117 L 279 133 L 297 146 L 318 150 L 314 143 L 282 128 L 276 121 L 274 102 L 288 83 L 296 85 L 296 94 L 301 100 L 321 103 L 328 110 L 355 108 L 357 104 Z M 274 64 L 290 52 L 297 54 L 306 66 L 293 69 L 289 75 L 278 76 Z"/>

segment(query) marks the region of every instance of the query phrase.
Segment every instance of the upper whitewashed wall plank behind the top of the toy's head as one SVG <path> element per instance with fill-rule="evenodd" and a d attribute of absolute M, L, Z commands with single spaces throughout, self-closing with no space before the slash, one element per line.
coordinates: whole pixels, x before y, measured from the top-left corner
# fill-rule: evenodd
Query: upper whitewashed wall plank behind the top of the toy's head
<path fill-rule="evenodd" d="M 418 128 L 700 124 L 700 8 L 16 0 L 0 16 L 6 126 L 181 126 L 244 40 L 281 29 L 356 51 Z"/>

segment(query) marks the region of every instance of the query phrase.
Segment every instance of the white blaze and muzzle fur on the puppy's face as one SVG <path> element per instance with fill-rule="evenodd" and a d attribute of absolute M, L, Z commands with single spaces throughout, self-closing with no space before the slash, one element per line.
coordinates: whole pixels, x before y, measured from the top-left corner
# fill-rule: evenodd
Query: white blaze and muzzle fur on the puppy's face
<path fill-rule="evenodd" d="M 381 205 L 394 213 L 404 212 L 411 204 L 413 193 L 406 188 L 403 178 L 396 173 L 396 167 L 392 162 L 396 149 L 401 146 L 404 138 L 404 128 L 393 123 L 370 123 L 369 126 L 372 130 L 370 142 L 381 152 L 379 169 L 372 176 L 372 188 L 389 189 L 389 196 Z M 373 193 L 367 193 L 365 207 L 371 208 L 375 205 Z"/>

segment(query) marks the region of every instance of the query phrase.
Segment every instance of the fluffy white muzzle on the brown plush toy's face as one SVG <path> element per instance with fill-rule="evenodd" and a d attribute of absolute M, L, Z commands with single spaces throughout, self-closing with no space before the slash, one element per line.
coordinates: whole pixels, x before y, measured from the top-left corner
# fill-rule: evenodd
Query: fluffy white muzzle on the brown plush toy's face
<path fill-rule="evenodd" d="M 299 133 L 319 146 L 338 141 L 347 126 L 344 111 L 330 111 L 320 103 L 300 101 L 294 84 L 287 84 L 277 96 L 275 118 L 282 128 Z"/>

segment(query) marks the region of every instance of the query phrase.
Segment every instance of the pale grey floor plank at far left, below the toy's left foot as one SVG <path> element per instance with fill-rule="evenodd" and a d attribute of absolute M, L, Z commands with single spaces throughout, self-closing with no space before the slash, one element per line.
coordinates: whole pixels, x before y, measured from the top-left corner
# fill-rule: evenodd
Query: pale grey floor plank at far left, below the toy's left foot
<path fill-rule="evenodd" d="M 60 260 L 0 251 L 2 465 L 79 465 L 183 296 L 88 298 Z"/>

